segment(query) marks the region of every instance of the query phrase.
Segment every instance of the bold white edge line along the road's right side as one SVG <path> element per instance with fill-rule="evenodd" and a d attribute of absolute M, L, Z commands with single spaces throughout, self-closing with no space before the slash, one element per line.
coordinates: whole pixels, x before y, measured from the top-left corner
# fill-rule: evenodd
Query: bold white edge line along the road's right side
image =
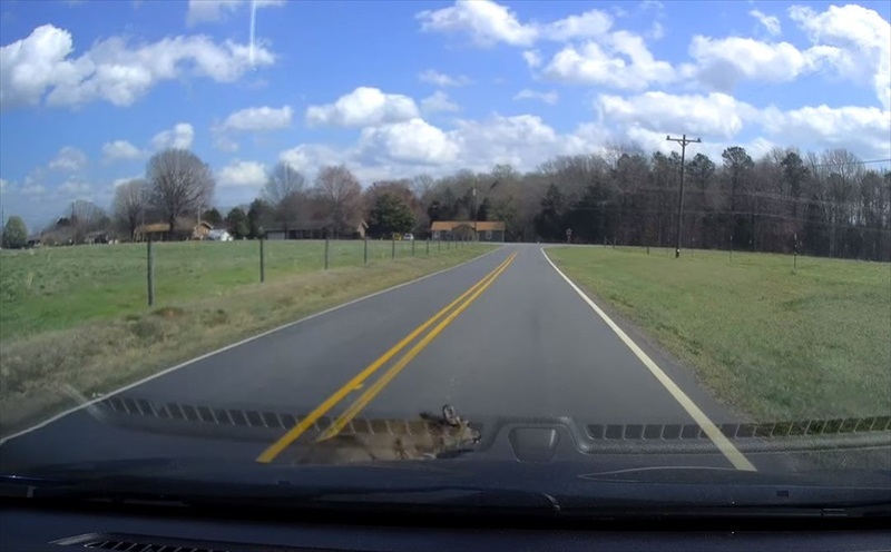
<path fill-rule="evenodd" d="M 649 369 L 649 372 L 656 377 L 656 379 L 659 381 L 659 383 L 675 398 L 675 401 L 677 401 L 678 404 L 681 404 L 681 406 L 687 412 L 687 414 L 689 414 L 689 416 L 694 420 L 694 422 L 696 422 L 699 425 L 699 427 L 702 427 L 703 432 L 705 432 L 708 438 L 712 440 L 712 443 L 714 443 L 715 446 L 718 447 L 718 450 L 724 454 L 724 456 L 727 457 L 731 464 L 733 464 L 733 466 L 737 470 L 746 472 L 757 471 L 755 470 L 755 466 L 752 464 L 752 462 L 750 462 L 748 459 L 746 459 L 743 455 L 743 453 L 741 453 L 733 445 L 733 443 L 731 443 L 727 436 L 721 432 L 721 430 L 715 425 L 715 423 L 712 422 L 698 406 L 696 406 L 696 403 L 694 403 L 693 400 L 689 396 L 687 396 L 687 394 L 684 393 L 684 391 L 681 387 L 678 387 L 677 384 L 674 383 L 670 377 L 668 377 L 668 374 L 666 374 L 659 367 L 659 365 L 656 364 L 653 361 L 653 358 L 650 358 L 649 355 L 647 355 L 644 352 L 644 349 L 642 349 L 634 342 L 634 339 L 631 339 L 628 336 L 628 334 L 626 334 L 618 326 L 618 324 L 613 322 L 613 319 L 609 316 L 607 316 L 607 314 L 600 307 L 598 307 L 597 304 L 594 303 L 591 298 L 585 294 L 585 292 L 582 292 L 571 279 L 569 279 L 569 277 L 566 274 L 564 274 L 562 270 L 557 268 L 557 265 L 555 265 L 554 262 L 550 259 L 550 257 L 548 257 L 548 254 L 545 253 L 544 247 L 541 248 L 541 255 L 545 256 L 545 259 L 548 262 L 551 268 L 557 270 L 557 274 L 562 276 L 566 283 L 569 284 L 569 286 L 585 300 L 585 303 L 587 303 L 588 306 L 591 307 L 591 309 L 595 313 L 597 313 L 597 315 L 600 316 L 600 318 L 604 319 L 607 326 L 609 326 L 610 329 L 613 329 L 613 332 L 615 332 L 616 335 L 618 335 L 619 339 L 621 339 L 621 342 L 625 343 L 625 345 L 629 349 L 631 349 L 631 353 L 634 353 L 635 356 L 637 356 L 637 358 L 639 358 L 640 362 L 644 363 L 644 366 L 646 366 L 647 369 Z"/>

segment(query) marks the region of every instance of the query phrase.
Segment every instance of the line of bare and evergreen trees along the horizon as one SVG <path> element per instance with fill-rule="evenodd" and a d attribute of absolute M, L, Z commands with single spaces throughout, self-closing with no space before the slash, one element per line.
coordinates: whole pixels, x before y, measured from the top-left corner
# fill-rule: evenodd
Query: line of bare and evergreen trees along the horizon
<path fill-rule="evenodd" d="M 733 146 L 719 159 L 688 157 L 684 171 L 685 248 L 891 260 L 891 171 L 870 168 L 846 149 L 775 148 L 755 160 Z M 178 220 L 200 217 L 236 238 L 306 227 L 339 238 L 362 223 L 372 237 L 425 237 L 437 220 L 499 220 L 508 240 L 674 247 L 681 156 L 610 145 L 527 172 L 496 165 L 364 189 L 343 165 L 323 167 L 310 183 L 278 164 L 258 197 L 225 215 L 210 206 L 214 187 L 195 154 L 165 150 L 149 159 L 145 178 L 117 187 L 110 215 L 79 201 L 56 226 L 69 225 L 78 236 L 114 227 L 131 238 L 145 221 L 165 221 L 173 231 Z"/>

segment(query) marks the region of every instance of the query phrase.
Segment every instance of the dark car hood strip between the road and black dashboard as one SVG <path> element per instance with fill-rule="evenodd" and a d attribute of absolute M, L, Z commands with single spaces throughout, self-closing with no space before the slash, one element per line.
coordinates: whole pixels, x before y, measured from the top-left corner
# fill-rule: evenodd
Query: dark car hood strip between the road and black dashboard
<path fill-rule="evenodd" d="M 784 474 L 664 466 L 484 461 L 285 466 L 144 459 L 0 476 L 0 494 L 63 501 L 167 501 L 182 506 L 394 509 L 536 515 L 888 515 L 888 472 Z"/>

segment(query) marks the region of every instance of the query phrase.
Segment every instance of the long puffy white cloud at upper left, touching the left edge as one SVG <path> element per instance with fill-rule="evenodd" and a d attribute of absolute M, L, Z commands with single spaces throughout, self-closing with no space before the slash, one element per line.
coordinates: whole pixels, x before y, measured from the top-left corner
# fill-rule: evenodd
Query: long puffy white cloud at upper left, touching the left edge
<path fill-rule="evenodd" d="M 204 36 L 165 38 L 131 46 L 111 37 L 79 57 L 71 33 L 51 24 L 0 48 L 0 109 L 36 106 L 46 95 L 49 106 L 77 107 L 105 100 L 129 106 L 163 80 L 193 75 L 217 82 L 237 80 L 251 67 L 251 47 Z M 254 47 L 254 65 L 275 60 Z"/>

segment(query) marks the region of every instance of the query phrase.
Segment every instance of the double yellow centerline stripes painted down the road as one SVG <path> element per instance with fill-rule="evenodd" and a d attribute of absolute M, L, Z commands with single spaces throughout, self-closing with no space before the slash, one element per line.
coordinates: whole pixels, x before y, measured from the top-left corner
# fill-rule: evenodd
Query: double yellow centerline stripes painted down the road
<path fill-rule="evenodd" d="M 341 386 L 337 391 L 335 391 L 330 397 L 327 397 L 322 404 L 320 404 L 313 412 L 311 412 L 307 416 L 301 418 L 301 421 L 292 427 L 287 433 L 281 436 L 276 442 L 270 445 L 263 453 L 257 456 L 256 461 L 261 463 L 268 463 L 272 462 L 275 456 L 282 453 L 285 448 L 287 448 L 294 441 L 296 441 L 303 433 L 306 432 L 310 427 L 312 427 L 315 422 L 319 421 L 322 416 L 324 416 L 331 408 L 336 406 L 337 403 L 343 401 L 350 393 L 352 393 L 356 386 L 362 385 L 365 379 L 368 379 L 371 375 L 373 375 L 378 369 L 381 368 L 384 364 L 390 362 L 390 359 L 399 354 L 405 346 L 408 346 L 411 342 L 413 342 L 419 335 L 425 332 L 430 326 L 437 323 L 440 318 L 446 316 L 456 305 L 460 304 L 464 298 L 473 294 L 476 289 L 480 286 L 484 285 L 487 280 L 492 278 L 501 267 L 507 266 L 509 262 L 516 256 L 516 254 L 509 256 L 507 259 L 501 262 L 495 269 L 483 276 L 480 280 L 476 284 L 470 286 L 466 292 L 458 296 L 454 300 L 446 305 L 442 309 L 440 309 L 437 314 L 434 314 L 431 318 L 427 322 L 414 328 L 409 335 L 402 338 L 399 343 L 393 345 L 386 353 L 380 356 L 376 361 L 368 365 L 362 372 L 353 376 L 349 382 L 346 382 L 343 386 Z"/>

